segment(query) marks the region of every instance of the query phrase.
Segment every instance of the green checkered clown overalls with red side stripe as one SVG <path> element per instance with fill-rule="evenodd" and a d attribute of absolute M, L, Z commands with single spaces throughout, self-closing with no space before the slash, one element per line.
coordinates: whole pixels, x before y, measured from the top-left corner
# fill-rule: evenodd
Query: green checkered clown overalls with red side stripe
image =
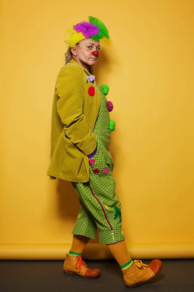
<path fill-rule="evenodd" d="M 111 132 L 109 111 L 102 86 L 98 86 L 101 103 L 93 133 L 97 139 L 97 153 L 89 160 L 88 183 L 72 183 L 79 194 L 81 209 L 73 234 L 96 238 L 99 242 L 112 244 L 124 240 L 121 221 L 121 203 L 114 193 L 113 158 L 109 150 Z"/>

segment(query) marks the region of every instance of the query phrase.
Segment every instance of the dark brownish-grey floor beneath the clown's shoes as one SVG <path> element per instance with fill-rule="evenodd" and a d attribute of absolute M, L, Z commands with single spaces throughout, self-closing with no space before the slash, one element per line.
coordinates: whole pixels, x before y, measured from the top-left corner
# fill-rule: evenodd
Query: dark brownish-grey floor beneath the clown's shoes
<path fill-rule="evenodd" d="M 149 261 L 145 260 L 145 263 Z M 194 259 L 162 260 L 160 274 L 135 292 L 194 292 Z M 87 261 L 101 276 L 86 279 L 63 273 L 63 261 L 0 261 L 0 292 L 114 292 L 124 285 L 115 261 Z"/>

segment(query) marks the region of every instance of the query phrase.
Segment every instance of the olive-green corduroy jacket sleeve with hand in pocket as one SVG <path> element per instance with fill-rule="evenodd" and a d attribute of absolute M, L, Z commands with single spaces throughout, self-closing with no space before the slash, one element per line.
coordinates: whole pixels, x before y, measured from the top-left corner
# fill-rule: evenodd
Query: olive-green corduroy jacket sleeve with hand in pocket
<path fill-rule="evenodd" d="M 69 64 L 60 71 L 56 81 L 57 110 L 66 136 L 89 155 L 96 148 L 96 137 L 83 114 L 84 80 L 81 69 Z"/>

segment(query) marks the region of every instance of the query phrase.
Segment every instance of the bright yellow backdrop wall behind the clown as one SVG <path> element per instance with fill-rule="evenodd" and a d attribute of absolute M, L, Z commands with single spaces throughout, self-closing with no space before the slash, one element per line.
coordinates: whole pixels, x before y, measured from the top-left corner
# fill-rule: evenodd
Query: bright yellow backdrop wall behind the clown
<path fill-rule="evenodd" d="M 70 248 L 79 203 L 70 183 L 46 175 L 51 107 L 65 29 L 88 15 L 113 38 L 96 76 L 114 104 L 129 253 L 194 256 L 194 1 L 1 0 L 0 14 L 0 257 L 63 259 Z M 97 242 L 85 256 L 109 257 Z"/>

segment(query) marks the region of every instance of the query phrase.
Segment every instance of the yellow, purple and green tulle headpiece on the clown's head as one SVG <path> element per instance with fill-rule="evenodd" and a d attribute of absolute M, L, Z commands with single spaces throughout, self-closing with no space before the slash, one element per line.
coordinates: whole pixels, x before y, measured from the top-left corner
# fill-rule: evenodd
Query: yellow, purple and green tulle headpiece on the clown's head
<path fill-rule="evenodd" d="M 69 47 L 74 47 L 79 41 L 88 37 L 100 41 L 106 46 L 111 46 L 113 41 L 109 37 L 109 31 L 102 21 L 89 16 L 88 21 L 82 21 L 72 29 L 65 31 L 65 42 Z"/>

